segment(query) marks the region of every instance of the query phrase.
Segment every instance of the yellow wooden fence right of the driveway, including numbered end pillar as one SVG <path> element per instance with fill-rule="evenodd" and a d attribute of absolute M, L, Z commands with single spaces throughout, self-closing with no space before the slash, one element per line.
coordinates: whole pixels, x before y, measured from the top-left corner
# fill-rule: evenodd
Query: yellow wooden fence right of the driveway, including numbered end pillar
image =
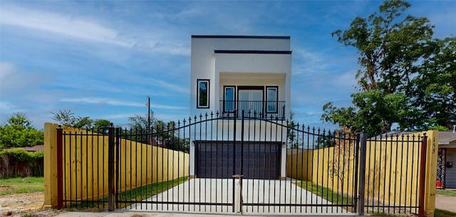
<path fill-rule="evenodd" d="M 425 213 L 427 216 L 433 216 L 438 131 L 425 133 L 427 135 Z M 423 136 L 423 132 L 408 135 L 410 138 L 415 137 L 415 141 L 420 136 Z M 418 206 L 416 203 L 418 203 L 419 193 L 417 189 L 418 177 L 420 177 L 420 149 L 416 145 L 417 142 L 402 140 L 402 137 L 388 137 L 388 140 L 367 142 L 365 195 L 377 201 L 392 201 L 400 206 Z M 289 149 L 286 158 L 287 176 L 312 181 L 335 192 L 353 192 L 353 181 L 356 181 L 353 179 L 354 146 L 355 144 L 346 144 L 338 147 L 309 149 L 309 151 Z M 334 167 L 345 169 L 345 172 L 335 171 Z"/>

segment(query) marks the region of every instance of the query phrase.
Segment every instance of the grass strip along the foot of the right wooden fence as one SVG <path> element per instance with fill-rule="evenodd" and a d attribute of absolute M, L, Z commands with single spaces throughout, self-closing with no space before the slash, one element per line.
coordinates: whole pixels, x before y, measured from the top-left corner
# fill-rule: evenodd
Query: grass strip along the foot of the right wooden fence
<path fill-rule="evenodd" d="M 333 192 L 331 189 L 325 188 L 323 186 L 318 186 L 311 181 L 296 181 L 295 184 L 303 189 L 306 189 L 307 191 L 311 191 L 312 193 L 321 196 L 323 199 L 326 199 L 333 204 L 345 206 L 352 205 L 351 198 Z"/>

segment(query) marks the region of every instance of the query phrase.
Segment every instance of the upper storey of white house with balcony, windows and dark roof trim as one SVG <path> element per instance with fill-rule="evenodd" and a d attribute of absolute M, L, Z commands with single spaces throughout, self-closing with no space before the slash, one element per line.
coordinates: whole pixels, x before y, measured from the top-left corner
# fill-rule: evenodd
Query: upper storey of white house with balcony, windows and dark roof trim
<path fill-rule="evenodd" d="M 289 117 L 290 79 L 289 36 L 192 36 L 191 114 Z"/>

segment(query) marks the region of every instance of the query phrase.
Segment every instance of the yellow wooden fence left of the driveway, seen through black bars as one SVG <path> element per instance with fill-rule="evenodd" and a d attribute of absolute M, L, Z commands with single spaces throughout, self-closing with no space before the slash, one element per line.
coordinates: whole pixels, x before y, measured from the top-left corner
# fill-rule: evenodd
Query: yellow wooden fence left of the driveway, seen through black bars
<path fill-rule="evenodd" d="M 57 127 L 50 123 L 44 126 L 45 206 L 51 207 L 56 207 L 58 202 Z M 107 196 L 108 136 L 65 126 L 63 132 L 72 134 L 63 136 L 63 199 Z M 120 167 L 120 190 L 170 181 L 189 174 L 189 154 L 126 139 L 120 139 L 119 148 L 119 162 L 115 164 Z"/>

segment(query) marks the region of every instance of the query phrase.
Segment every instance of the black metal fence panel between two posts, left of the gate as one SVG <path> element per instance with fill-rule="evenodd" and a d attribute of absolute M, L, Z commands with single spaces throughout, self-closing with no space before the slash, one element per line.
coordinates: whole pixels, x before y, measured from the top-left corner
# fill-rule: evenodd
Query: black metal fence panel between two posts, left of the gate
<path fill-rule="evenodd" d="M 111 129 L 112 130 L 112 129 Z M 108 208 L 108 135 L 76 129 L 57 129 L 58 158 L 62 164 L 57 176 L 61 190 L 58 202 L 67 207 Z M 60 150 L 59 150 L 60 147 Z M 58 159 L 58 161 L 59 161 Z"/>

